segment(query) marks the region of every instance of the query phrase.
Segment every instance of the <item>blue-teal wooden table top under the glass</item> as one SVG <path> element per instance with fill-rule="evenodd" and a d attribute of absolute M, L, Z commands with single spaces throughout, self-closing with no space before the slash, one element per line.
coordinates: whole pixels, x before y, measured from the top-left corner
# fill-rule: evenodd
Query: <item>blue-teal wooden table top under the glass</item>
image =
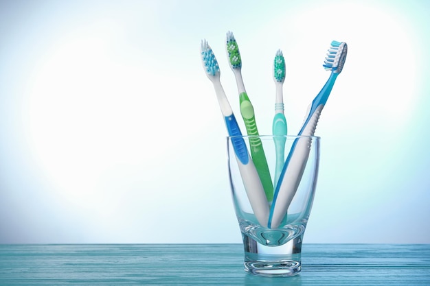
<path fill-rule="evenodd" d="M 245 274 L 240 244 L 0 245 L 0 285 L 430 285 L 430 245 L 304 244 L 302 273 Z"/>

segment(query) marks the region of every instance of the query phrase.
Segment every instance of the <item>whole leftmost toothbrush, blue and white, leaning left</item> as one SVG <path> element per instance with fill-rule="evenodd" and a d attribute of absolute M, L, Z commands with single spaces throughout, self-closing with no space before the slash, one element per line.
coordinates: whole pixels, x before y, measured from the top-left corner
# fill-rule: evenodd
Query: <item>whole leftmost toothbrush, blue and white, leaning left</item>
<path fill-rule="evenodd" d="M 231 143 L 234 147 L 240 175 L 242 176 L 249 203 L 251 204 L 251 208 L 258 222 L 266 227 L 269 219 L 269 204 L 267 204 L 262 182 L 258 176 L 256 166 L 253 164 L 251 156 L 249 156 L 245 140 L 241 137 L 242 133 L 240 132 L 236 117 L 234 117 L 233 110 L 231 110 L 231 106 L 225 95 L 223 86 L 221 85 L 218 62 L 206 40 L 202 40 L 201 42 L 201 58 L 207 78 L 214 84 L 218 104 L 225 119 L 225 126 L 227 127 L 229 136 L 232 136 Z"/>

